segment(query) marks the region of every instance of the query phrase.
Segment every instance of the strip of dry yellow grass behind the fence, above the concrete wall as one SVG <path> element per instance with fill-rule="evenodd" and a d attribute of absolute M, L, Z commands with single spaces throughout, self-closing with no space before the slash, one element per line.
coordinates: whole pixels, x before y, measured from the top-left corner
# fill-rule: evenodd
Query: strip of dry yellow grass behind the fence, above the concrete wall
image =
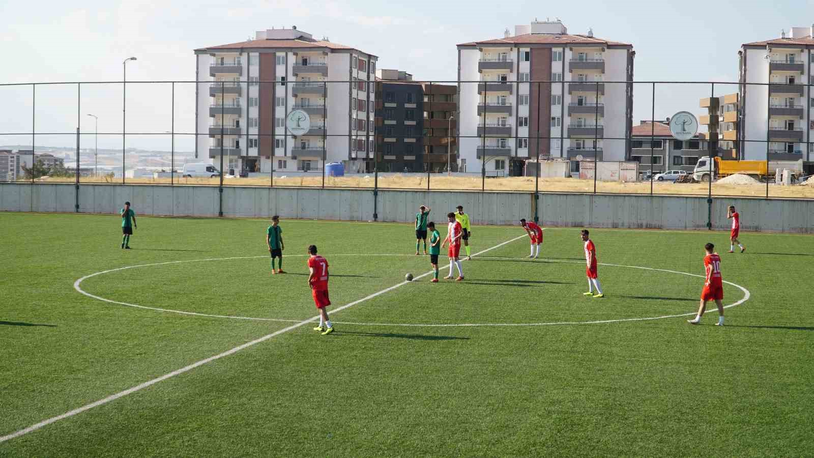
<path fill-rule="evenodd" d="M 325 177 L 326 187 L 348 187 L 348 188 L 373 188 L 374 175 L 351 175 L 345 177 Z M 70 178 L 45 178 L 37 180 L 40 183 L 73 183 Z M 105 177 L 85 177 L 81 178 L 81 183 L 121 183 L 121 180 Z M 128 184 L 169 184 L 169 178 L 134 178 L 127 179 Z M 176 178 L 173 183 L 182 185 L 208 185 L 217 186 L 219 178 Z M 483 180 L 479 176 L 447 177 L 444 174 L 431 174 L 429 178 L 430 189 L 441 190 L 462 190 L 480 191 Z M 269 186 L 270 178 L 224 178 L 225 186 Z M 281 187 L 321 187 L 322 174 L 307 176 L 285 177 L 274 176 L 274 186 Z M 709 187 L 702 183 L 652 183 L 654 194 L 664 195 L 685 195 L 685 196 L 707 196 Z M 386 189 L 427 189 L 427 175 L 418 174 L 383 174 L 379 176 L 379 188 Z M 506 177 L 506 178 L 486 178 L 485 189 L 487 191 L 534 191 L 535 178 L 533 177 Z M 539 189 L 541 192 L 594 192 L 593 180 L 580 180 L 577 178 L 540 178 Z M 650 194 L 650 182 L 639 183 L 617 183 L 603 182 L 596 183 L 596 192 L 608 194 Z M 738 185 L 712 183 L 712 194 L 715 196 L 745 196 L 764 197 L 766 196 L 766 185 L 764 183 L 755 185 Z M 790 198 L 814 198 L 814 182 L 797 186 L 776 186 L 769 185 L 768 195 L 770 197 L 790 197 Z"/>

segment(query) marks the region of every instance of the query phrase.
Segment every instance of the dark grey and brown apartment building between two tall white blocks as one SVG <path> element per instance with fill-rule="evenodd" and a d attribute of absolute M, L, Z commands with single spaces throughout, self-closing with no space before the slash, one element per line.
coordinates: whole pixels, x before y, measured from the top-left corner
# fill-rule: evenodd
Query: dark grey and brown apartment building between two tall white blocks
<path fill-rule="evenodd" d="M 412 81 L 412 75 L 399 70 L 382 69 L 377 77 L 379 170 L 447 170 L 456 159 L 457 86 Z"/>

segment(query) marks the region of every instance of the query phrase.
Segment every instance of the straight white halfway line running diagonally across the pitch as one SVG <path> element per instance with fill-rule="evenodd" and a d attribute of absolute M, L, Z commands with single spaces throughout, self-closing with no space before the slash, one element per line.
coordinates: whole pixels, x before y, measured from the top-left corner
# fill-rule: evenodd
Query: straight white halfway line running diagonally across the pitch
<path fill-rule="evenodd" d="M 527 235 L 523 234 L 523 236 L 518 236 L 518 237 L 515 237 L 514 239 L 507 240 L 507 241 L 505 241 L 505 242 L 503 242 L 501 244 L 497 244 L 497 245 L 493 246 L 492 248 L 484 249 L 483 251 L 475 253 L 473 256 L 477 256 L 479 254 L 487 253 L 488 251 L 492 251 L 492 249 L 500 248 L 501 246 L 503 246 L 505 244 L 510 244 L 511 242 L 514 242 L 515 240 L 520 240 L 523 237 L 527 237 Z M 256 258 L 256 257 L 252 256 L 252 257 L 246 257 L 246 258 Z M 265 258 L 265 257 L 260 257 L 260 258 Z M 240 259 L 240 258 L 234 258 L 234 259 Z M 165 263 L 169 264 L 169 263 L 172 263 L 172 262 L 165 262 Z M 447 266 L 449 266 L 449 264 Z M 446 267 L 446 266 L 444 266 L 444 267 Z M 416 278 L 421 278 L 421 277 L 430 275 L 431 273 L 432 273 L 432 271 L 427 272 L 426 274 L 419 275 Z M 79 280 L 77 280 L 77 282 L 78 281 Z M 331 310 L 330 313 L 331 314 L 338 313 L 341 310 L 347 309 L 348 307 L 351 307 L 351 306 L 355 306 L 355 305 L 357 305 L 357 304 L 359 304 L 361 302 L 365 302 L 365 301 L 367 301 L 369 299 L 380 296 L 380 295 L 382 295 L 384 293 L 388 293 L 388 292 L 392 291 L 393 289 L 399 288 L 400 286 L 404 286 L 405 284 L 408 284 L 408 283 L 409 283 L 409 281 L 403 281 L 403 282 L 401 282 L 399 284 L 394 284 L 390 288 L 384 288 L 383 290 L 381 290 L 381 291 L 379 291 L 377 293 L 370 294 L 370 296 L 362 297 L 361 299 L 359 299 L 357 301 L 351 302 L 349 304 L 346 304 L 344 306 L 340 306 L 339 308 Z M 98 407 L 98 406 L 110 403 L 112 401 L 115 401 L 116 399 L 123 398 L 123 397 L 127 396 L 128 394 L 133 394 L 136 391 L 143 390 L 143 389 L 147 388 L 148 386 L 155 385 L 156 383 L 159 383 L 160 381 L 165 381 L 168 378 L 175 377 L 175 376 L 180 375 L 180 374 L 182 374 L 184 372 L 189 372 L 192 369 L 198 368 L 199 366 L 203 366 L 206 363 L 212 363 L 212 361 L 215 361 L 216 359 L 221 359 L 221 358 L 223 358 L 225 356 L 234 355 L 235 353 L 239 352 L 240 350 L 246 349 L 246 348 L 248 348 L 250 346 L 255 346 L 255 345 L 259 344 L 260 342 L 267 341 L 270 338 L 279 336 L 280 334 L 283 334 L 285 332 L 293 331 L 294 329 L 300 328 L 301 326 L 304 326 L 305 324 L 309 324 L 310 322 L 312 322 L 315 319 L 319 319 L 319 315 L 313 316 L 313 317 L 311 317 L 309 319 L 304 319 L 304 320 L 300 321 L 299 323 L 292 324 L 291 326 L 288 326 L 287 328 L 282 328 L 279 331 L 272 332 L 272 333 L 267 334 L 267 335 L 265 335 L 263 337 L 260 337 L 259 339 L 244 343 L 241 346 L 236 346 L 233 349 L 226 350 L 225 352 L 223 352 L 221 354 L 210 356 L 207 359 L 201 359 L 197 363 L 192 363 L 189 366 L 185 366 L 185 367 L 177 369 L 177 370 L 175 370 L 173 372 L 169 372 L 168 374 L 164 374 L 161 377 L 154 378 L 151 381 L 145 381 L 141 385 L 136 385 L 136 386 L 133 386 L 132 388 L 128 388 L 127 390 L 120 391 L 119 393 L 116 393 L 116 394 L 112 394 L 110 396 L 107 396 L 107 398 L 99 399 L 98 401 L 96 401 L 94 403 L 86 404 L 86 405 L 84 405 L 82 407 L 73 409 L 70 412 L 65 412 L 62 415 L 52 416 L 51 418 L 49 418 L 47 420 L 40 421 L 39 423 L 37 423 L 35 425 L 28 426 L 28 428 L 20 429 L 19 431 L 16 431 L 15 433 L 7 434 L 5 436 L 0 437 L 0 443 L 4 443 L 4 442 L 6 442 L 8 440 L 11 440 L 13 438 L 19 438 L 20 436 L 23 436 L 25 434 L 36 431 L 37 429 L 40 429 L 40 428 L 42 428 L 44 426 L 47 426 L 47 425 L 50 425 L 51 423 L 55 423 L 57 421 L 64 420 L 64 419 L 69 418 L 71 416 L 75 416 L 75 415 L 78 415 L 78 414 L 80 414 L 82 412 L 88 411 L 88 410 L 90 410 L 90 409 L 92 409 L 94 407 Z"/>

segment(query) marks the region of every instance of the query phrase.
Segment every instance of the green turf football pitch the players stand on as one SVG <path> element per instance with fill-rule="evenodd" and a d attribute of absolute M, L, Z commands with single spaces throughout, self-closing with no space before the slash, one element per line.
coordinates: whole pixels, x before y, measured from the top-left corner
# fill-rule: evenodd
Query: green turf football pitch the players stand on
<path fill-rule="evenodd" d="M 278 332 L 0 456 L 814 454 L 812 236 L 743 233 L 726 254 L 722 232 L 592 230 L 593 298 L 578 229 L 547 229 L 530 260 L 519 227 L 476 226 L 488 251 L 464 282 L 402 284 L 429 271 L 409 224 L 281 225 L 289 273 L 272 276 L 263 221 L 139 217 L 122 250 L 116 215 L 0 214 L 0 436 Z M 700 326 L 647 319 L 694 314 L 707 241 L 743 288 L 724 304 L 748 300 L 724 328 L 714 306 Z M 296 326 L 316 315 L 308 244 L 329 311 L 357 302 L 328 336 Z M 79 287 L 133 306 L 74 288 L 125 266 Z"/>

